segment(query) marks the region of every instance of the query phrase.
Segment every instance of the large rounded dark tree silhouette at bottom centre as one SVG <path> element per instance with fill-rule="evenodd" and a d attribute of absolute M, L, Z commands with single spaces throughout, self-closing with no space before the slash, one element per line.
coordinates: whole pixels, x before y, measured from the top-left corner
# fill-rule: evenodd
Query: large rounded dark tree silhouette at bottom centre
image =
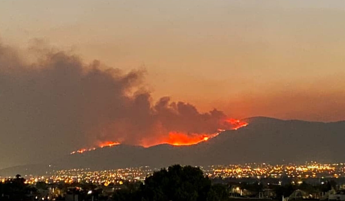
<path fill-rule="evenodd" d="M 229 193 L 225 185 L 211 185 L 200 168 L 172 165 L 146 177 L 145 182 L 124 184 L 117 190 L 115 201 L 225 201 Z"/>

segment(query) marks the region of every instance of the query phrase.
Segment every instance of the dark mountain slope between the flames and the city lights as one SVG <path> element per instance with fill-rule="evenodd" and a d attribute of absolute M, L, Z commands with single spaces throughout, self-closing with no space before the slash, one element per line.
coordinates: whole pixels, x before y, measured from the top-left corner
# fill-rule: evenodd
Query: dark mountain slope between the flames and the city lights
<path fill-rule="evenodd" d="M 245 119 L 247 127 L 220 133 L 189 146 L 160 144 L 149 148 L 120 144 L 56 160 L 49 170 L 67 168 L 114 169 L 171 164 L 234 164 L 245 162 L 283 163 L 345 161 L 345 121 L 322 123 L 279 120 L 267 117 Z M 284 160 L 284 161 L 283 161 Z M 15 168 L 21 174 L 46 172 L 48 165 Z M 28 170 L 29 169 L 29 170 Z M 8 175 L 11 168 L 0 170 Z M 25 171 L 25 172 L 20 172 Z"/>

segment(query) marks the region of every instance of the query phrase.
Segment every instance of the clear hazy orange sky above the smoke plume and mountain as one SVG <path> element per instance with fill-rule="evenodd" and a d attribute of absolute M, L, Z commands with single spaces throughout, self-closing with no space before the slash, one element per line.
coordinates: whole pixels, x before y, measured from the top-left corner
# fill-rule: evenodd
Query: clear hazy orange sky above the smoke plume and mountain
<path fill-rule="evenodd" d="M 344 120 L 344 1 L 1 1 L 0 36 L 124 70 L 234 118 Z"/>

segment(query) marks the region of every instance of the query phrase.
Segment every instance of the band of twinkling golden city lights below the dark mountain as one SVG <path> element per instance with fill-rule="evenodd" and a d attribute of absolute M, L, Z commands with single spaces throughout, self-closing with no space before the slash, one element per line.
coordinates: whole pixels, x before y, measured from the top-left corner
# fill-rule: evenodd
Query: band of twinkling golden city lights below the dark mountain
<path fill-rule="evenodd" d="M 271 165 L 267 163 L 246 163 L 229 165 L 210 165 L 200 167 L 204 174 L 209 178 L 339 178 L 345 177 L 345 163 L 321 164 L 309 162 L 303 165 L 282 164 Z M 159 168 L 150 168 L 148 166 L 136 168 L 123 168 L 113 170 L 91 171 L 90 169 L 69 169 L 55 170 L 47 175 L 25 175 L 27 184 L 37 182 L 46 183 L 95 183 L 109 185 L 110 183 L 122 184 L 127 181 L 144 181 L 145 177 L 151 175 Z M 11 177 L 1 178 L 5 182 Z"/>

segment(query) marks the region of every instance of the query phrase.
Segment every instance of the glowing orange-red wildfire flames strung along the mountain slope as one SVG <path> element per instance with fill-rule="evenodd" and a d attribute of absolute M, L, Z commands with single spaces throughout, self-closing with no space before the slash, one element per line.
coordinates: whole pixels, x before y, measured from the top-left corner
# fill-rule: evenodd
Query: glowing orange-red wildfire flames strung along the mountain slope
<path fill-rule="evenodd" d="M 225 119 L 221 120 L 220 122 L 220 127 L 217 129 L 216 132 L 214 133 L 188 133 L 188 132 L 180 132 L 180 131 L 170 131 L 167 136 L 163 136 L 158 141 L 156 142 L 151 142 L 151 143 L 141 143 L 143 147 L 151 147 L 154 145 L 158 144 L 171 144 L 175 146 L 182 146 L 182 145 L 192 145 L 192 144 L 198 144 L 203 141 L 207 141 L 211 138 L 216 137 L 220 132 L 226 131 L 226 130 L 237 130 L 239 128 L 247 126 L 248 123 L 237 120 L 237 119 Z M 98 148 L 103 148 L 103 147 L 112 147 L 115 145 L 120 144 L 120 142 L 113 142 L 113 141 L 103 141 L 98 144 Z M 92 151 L 96 150 L 98 148 L 89 148 L 89 149 L 79 149 L 77 151 L 73 151 L 70 154 L 75 154 L 75 153 L 83 153 L 86 151 Z"/>

